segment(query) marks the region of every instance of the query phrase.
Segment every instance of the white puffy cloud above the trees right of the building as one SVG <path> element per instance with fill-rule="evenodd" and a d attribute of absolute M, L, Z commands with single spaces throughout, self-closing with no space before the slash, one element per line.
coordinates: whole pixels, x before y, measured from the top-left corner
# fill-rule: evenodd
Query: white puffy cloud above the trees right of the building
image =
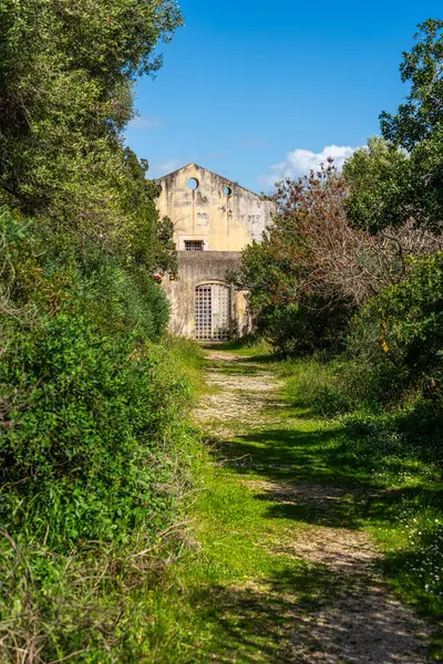
<path fill-rule="evenodd" d="M 300 175 L 309 174 L 311 169 L 317 170 L 320 164 L 326 164 L 328 157 L 333 158 L 333 163 L 337 168 L 343 166 L 344 160 L 350 157 L 357 147 L 350 147 L 349 145 L 327 145 L 319 153 L 315 153 L 310 149 L 297 148 L 286 155 L 285 159 L 279 164 L 275 164 L 270 167 L 270 175 L 258 176 L 258 181 L 268 187 L 272 187 L 275 183 L 284 179 L 285 177 L 298 177 Z"/>

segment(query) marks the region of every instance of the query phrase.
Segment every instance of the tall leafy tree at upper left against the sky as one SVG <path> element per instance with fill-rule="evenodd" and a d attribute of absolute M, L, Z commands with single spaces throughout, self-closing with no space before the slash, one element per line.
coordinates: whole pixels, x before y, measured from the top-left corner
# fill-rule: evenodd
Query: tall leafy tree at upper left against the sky
<path fill-rule="evenodd" d="M 0 204 L 53 220 L 65 245 L 131 253 L 125 231 L 156 224 L 155 189 L 122 131 L 135 76 L 155 74 L 181 22 L 173 0 L 1 3 Z"/>

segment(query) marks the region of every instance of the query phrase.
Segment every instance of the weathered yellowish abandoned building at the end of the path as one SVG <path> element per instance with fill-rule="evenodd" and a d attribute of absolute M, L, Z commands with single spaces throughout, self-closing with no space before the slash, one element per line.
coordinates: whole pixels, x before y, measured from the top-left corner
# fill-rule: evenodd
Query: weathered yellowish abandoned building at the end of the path
<path fill-rule="evenodd" d="M 189 164 L 156 180 L 158 209 L 174 224 L 178 274 L 163 283 L 171 328 L 200 341 L 225 341 L 250 330 L 247 293 L 226 283 L 240 251 L 271 221 L 274 204 L 206 168 Z"/>

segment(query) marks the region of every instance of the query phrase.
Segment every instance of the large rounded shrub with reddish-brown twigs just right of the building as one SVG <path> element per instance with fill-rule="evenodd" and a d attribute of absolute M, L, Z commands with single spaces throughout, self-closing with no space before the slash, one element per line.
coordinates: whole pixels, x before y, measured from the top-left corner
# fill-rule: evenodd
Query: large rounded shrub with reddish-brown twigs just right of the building
<path fill-rule="evenodd" d="M 411 224 L 374 234 L 350 226 L 349 180 L 360 190 L 373 179 L 377 190 L 378 173 L 391 172 L 385 142 L 374 138 L 370 149 L 348 164 L 347 179 L 329 160 L 318 173 L 280 183 L 271 228 L 243 252 L 239 283 L 250 291 L 259 329 L 280 350 L 340 347 L 353 313 L 405 277 L 408 256 L 440 247 Z"/>

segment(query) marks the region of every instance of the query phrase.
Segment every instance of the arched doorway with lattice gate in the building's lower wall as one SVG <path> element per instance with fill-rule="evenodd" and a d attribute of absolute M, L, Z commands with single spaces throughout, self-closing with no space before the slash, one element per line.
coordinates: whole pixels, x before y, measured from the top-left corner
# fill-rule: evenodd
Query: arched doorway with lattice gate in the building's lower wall
<path fill-rule="evenodd" d="M 230 339 L 230 288 L 203 283 L 195 289 L 195 338 L 199 341 Z"/>

